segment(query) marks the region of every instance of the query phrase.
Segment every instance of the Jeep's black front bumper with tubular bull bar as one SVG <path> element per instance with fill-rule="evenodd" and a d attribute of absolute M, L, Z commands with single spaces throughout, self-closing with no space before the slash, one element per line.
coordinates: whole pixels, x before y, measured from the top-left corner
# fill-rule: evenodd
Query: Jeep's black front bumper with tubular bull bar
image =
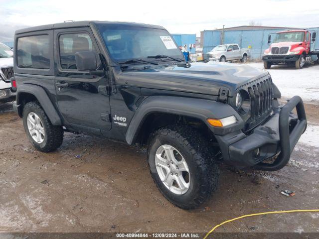
<path fill-rule="evenodd" d="M 297 115 L 291 112 L 296 107 Z M 300 136 L 307 128 L 302 99 L 294 96 L 286 105 L 274 109 L 267 122 L 246 135 L 242 131 L 216 135 L 224 160 L 236 168 L 253 167 L 276 171 L 289 161 Z M 258 152 L 259 149 L 259 153 Z M 277 156 L 273 163 L 263 161 Z"/>

